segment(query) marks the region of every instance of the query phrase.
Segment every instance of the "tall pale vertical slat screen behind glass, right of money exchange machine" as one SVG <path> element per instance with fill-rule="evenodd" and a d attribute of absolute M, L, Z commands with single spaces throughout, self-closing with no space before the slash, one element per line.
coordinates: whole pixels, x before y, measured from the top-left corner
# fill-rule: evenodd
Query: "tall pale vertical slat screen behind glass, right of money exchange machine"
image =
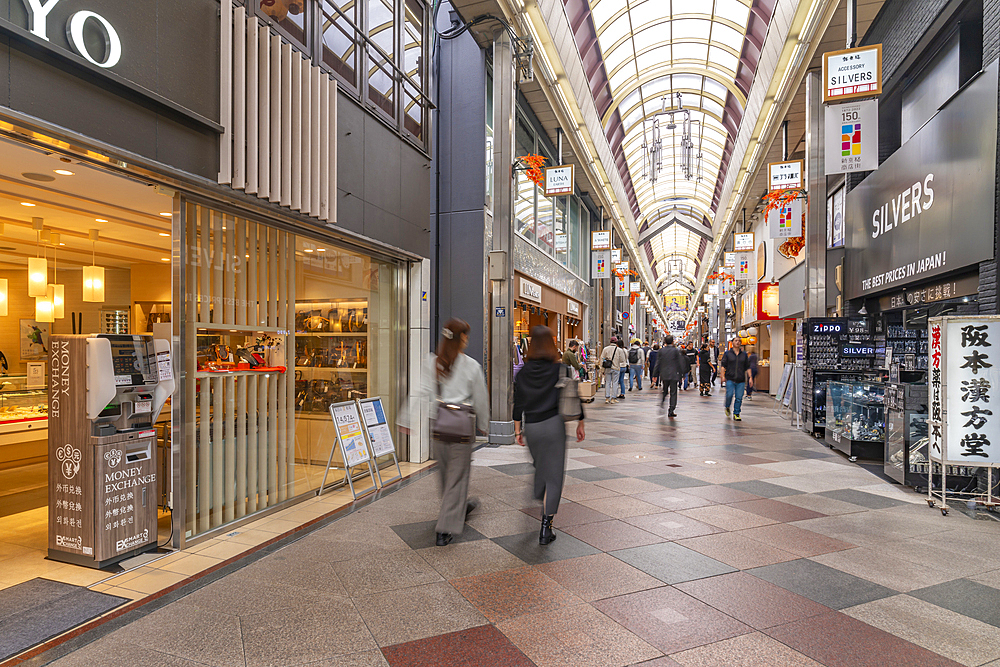
<path fill-rule="evenodd" d="M 188 537 L 294 496 L 294 373 L 199 372 L 202 345 L 230 335 L 283 342 L 294 368 L 295 236 L 186 203 L 184 428 Z M 249 255 L 249 257 L 247 257 Z"/>

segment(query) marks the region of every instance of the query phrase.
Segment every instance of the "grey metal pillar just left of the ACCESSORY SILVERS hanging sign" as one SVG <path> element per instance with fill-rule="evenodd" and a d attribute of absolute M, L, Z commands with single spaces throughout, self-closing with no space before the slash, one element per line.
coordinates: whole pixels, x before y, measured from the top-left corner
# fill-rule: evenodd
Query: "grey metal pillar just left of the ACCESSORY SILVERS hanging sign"
<path fill-rule="evenodd" d="M 806 317 L 826 316 L 826 167 L 823 154 L 823 82 L 806 75 Z"/>

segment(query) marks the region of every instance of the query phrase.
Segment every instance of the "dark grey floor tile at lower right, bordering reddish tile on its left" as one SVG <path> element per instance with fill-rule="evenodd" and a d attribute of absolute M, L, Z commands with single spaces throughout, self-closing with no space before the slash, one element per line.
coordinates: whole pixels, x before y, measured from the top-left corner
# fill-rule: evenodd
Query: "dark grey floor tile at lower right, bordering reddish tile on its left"
<path fill-rule="evenodd" d="M 805 558 L 747 572 L 832 609 L 853 607 L 896 594 L 891 588 Z"/>

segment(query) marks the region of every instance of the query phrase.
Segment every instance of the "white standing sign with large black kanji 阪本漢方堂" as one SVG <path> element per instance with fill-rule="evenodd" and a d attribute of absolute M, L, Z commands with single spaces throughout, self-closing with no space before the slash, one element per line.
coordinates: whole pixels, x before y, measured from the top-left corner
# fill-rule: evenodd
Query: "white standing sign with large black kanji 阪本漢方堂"
<path fill-rule="evenodd" d="M 931 324 L 931 404 L 934 403 L 934 327 Z M 943 458 L 959 465 L 1000 463 L 1000 319 L 943 318 L 940 326 L 944 374 Z M 933 417 L 932 417 L 933 419 Z"/>

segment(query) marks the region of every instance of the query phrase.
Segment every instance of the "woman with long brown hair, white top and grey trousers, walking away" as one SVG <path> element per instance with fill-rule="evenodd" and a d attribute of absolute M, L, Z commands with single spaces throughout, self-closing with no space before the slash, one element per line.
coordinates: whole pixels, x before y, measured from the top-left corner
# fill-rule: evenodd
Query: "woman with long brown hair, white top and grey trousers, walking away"
<path fill-rule="evenodd" d="M 436 355 L 428 359 L 424 372 L 424 395 L 429 401 L 428 414 L 436 414 L 437 402 L 472 405 L 476 427 L 486 432 L 490 423 L 490 401 L 486 392 L 483 368 L 463 353 L 469 344 L 469 324 L 452 318 L 441 331 Z M 441 510 L 438 513 L 437 546 L 450 543 L 461 535 L 465 519 L 477 502 L 469 499 L 469 472 L 475 442 L 432 440 L 434 458 L 441 466 Z"/>

